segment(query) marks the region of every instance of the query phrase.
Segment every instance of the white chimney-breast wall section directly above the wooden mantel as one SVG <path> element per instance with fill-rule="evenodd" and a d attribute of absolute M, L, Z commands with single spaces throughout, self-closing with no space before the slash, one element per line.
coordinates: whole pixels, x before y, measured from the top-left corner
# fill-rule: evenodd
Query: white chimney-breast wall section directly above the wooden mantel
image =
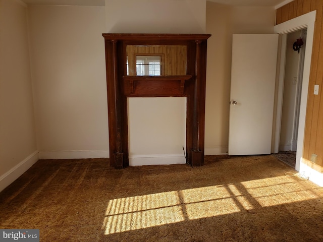
<path fill-rule="evenodd" d="M 205 33 L 206 0 L 105 0 L 106 33 Z"/>

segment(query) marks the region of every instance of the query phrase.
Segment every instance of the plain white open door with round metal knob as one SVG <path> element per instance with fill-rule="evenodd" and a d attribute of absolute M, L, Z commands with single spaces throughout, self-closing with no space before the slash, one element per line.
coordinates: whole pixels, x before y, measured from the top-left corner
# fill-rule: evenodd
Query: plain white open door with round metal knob
<path fill-rule="evenodd" d="M 229 155 L 270 154 L 278 34 L 234 34 Z"/>

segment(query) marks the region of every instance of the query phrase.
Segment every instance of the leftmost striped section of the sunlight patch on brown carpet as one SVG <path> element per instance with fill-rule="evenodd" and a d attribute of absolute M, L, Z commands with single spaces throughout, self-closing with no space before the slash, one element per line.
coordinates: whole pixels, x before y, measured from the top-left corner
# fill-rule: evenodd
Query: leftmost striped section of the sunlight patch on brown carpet
<path fill-rule="evenodd" d="M 184 221 L 177 192 L 110 200 L 103 222 L 105 234 Z"/>

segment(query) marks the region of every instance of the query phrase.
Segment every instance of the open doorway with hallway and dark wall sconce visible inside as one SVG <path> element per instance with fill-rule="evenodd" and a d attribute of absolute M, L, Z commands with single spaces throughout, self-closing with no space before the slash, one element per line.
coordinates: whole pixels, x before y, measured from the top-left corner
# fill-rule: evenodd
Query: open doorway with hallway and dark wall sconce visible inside
<path fill-rule="evenodd" d="M 295 168 L 300 100 L 303 80 L 307 28 L 287 33 L 279 152 L 275 155 Z M 295 47 L 297 40 L 303 45 Z"/>

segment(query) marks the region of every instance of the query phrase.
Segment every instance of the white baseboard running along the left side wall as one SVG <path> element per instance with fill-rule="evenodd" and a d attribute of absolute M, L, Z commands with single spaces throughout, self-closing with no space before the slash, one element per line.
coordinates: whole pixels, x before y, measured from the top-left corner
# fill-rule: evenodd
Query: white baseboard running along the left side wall
<path fill-rule="evenodd" d="M 38 150 L 0 176 L 0 192 L 12 184 L 39 159 Z"/>

